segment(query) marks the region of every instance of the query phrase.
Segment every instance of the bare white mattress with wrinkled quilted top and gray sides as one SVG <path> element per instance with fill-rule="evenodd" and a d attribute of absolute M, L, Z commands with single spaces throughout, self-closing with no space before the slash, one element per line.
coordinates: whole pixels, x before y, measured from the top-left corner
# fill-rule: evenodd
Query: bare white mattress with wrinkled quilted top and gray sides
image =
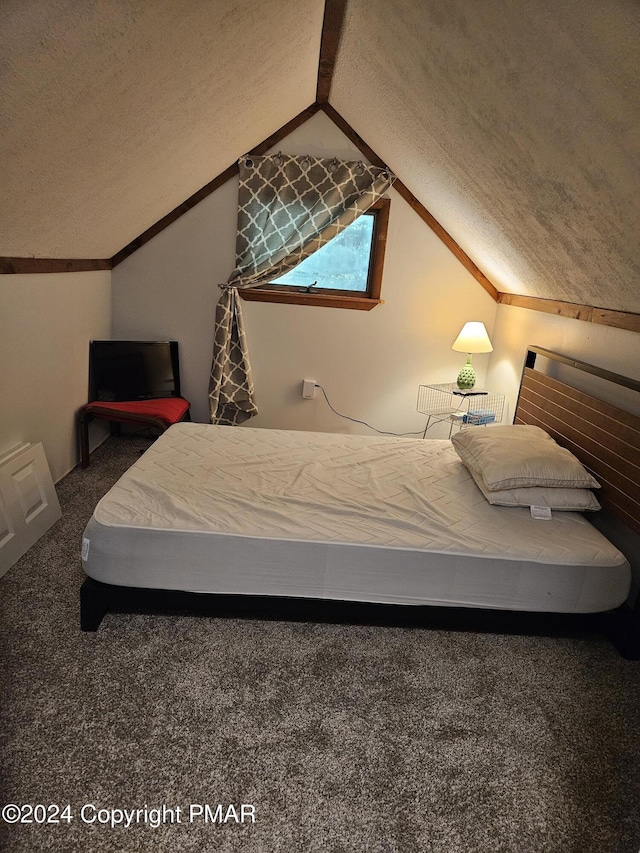
<path fill-rule="evenodd" d="M 83 561 L 123 586 L 549 612 L 630 585 L 583 516 L 490 506 L 449 441 L 192 423 L 102 498 Z"/>

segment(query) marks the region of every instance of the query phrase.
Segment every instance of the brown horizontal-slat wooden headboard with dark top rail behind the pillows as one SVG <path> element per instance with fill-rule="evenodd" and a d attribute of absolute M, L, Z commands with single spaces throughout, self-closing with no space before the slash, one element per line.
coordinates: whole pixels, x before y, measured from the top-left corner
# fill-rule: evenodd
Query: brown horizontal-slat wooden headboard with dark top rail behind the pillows
<path fill-rule="evenodd" d="M 514 423 L 539 426 L 570 450 L 601 484 L 603 508 L 640 533 L 640 417 L 536 370 L 537 355 L 639 393 L 640 382 L 529 347 L 514 417 Z"/>

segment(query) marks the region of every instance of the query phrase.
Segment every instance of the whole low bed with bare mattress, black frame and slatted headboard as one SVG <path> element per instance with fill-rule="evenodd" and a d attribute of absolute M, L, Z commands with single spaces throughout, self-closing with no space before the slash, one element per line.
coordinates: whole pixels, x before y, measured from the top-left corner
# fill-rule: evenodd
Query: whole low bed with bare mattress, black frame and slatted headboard
<path fill-rule="evenodd" d="M 569 447 L 585 466 L 580 493 L 597 478 L 598 502 L 635 525 L 640 419 L 542 374 L 537 355 L 553 356 L 528 351 L 515 423 Z M 176 424 L 87 525 L 82 628 L 110 609 L 167 607 L 545 632 L 604 615 L 632 656 L 627 557 L 588 513 L 490 503 L 463 443 Z"/>

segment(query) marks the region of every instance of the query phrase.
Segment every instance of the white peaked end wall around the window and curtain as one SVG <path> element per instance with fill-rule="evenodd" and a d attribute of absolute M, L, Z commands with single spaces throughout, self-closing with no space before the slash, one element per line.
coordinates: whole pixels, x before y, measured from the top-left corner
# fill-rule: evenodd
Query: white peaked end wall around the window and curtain
<path fill-rule="evenodd" d="M 361 159 L 322 113 L 278 149 Z M 234 267 L 237 194 L 237 180 L 227 182 L 112 273 L 113 336 L 178 340 L 183 393 L 203 422 L 217 285 Z M 482 320 L 491 335 L 495 303 L 403 199 L 393 190 L 390 197 L 384 305 L 243 303 L 260 409 L 250 426 L 370 432 L 337 418 L 319 393 L 302 400 L 301 381 L 310 378 L 347 415 L 381 430 L 420 431 L 417 386 L 455 379 L 464 356 L 451 344 L 463 323 Z M 489 357 L 474 362 L 482 382 Z"/>

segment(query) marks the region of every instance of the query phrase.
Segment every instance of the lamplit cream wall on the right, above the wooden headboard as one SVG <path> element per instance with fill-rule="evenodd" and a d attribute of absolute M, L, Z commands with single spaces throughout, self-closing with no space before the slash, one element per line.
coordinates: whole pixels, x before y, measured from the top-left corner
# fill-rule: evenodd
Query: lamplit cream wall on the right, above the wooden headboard
<path fill-rule="evenodd" d="M 487 384 L 506 393 L 507 422 L 513 419 L 527 346 L 544 347 L 640 380 L 640 335 L 636 332 L 511 305 L 499 305 L 492 341 L 494 351 L 491 354 Z M 586 393 L 640 415 L 640 395 L 637 392 L 610 386 L 570 368 L 555 368 L 549 372 L 563 380 L 566 377 L 566 381 Z"/>

